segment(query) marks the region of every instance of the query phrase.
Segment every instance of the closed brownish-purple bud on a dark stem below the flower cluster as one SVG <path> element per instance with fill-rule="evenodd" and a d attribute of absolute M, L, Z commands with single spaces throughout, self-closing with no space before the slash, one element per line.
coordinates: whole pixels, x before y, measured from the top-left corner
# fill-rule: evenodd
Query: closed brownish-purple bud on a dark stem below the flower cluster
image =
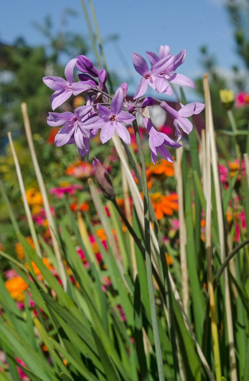
<path fill-rule="evenodd" d="M 93 158 L 93 169 L 95 172 L 95 177 L 97 184 L 100 187 L 104 197 L 107 200 L 114 200 L 116 194 L 114 192 L 112 181 L 109 177 L 109 174 L 105 168 L 101 165 L 100 161 L 94 156 Z"/>

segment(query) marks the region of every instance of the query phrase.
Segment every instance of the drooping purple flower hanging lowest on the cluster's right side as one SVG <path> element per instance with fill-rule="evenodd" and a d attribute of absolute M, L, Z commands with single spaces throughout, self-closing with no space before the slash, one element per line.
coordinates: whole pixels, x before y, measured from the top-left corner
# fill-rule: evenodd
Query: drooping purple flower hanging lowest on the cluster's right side
<path fill-rule="evenodd" d="M 148 118 L 143 118 L 143 123 L 149 134 L 149 146 L 152 163 L 155 164 L 157 160 L 157 154 L 160 154 L 168 162 L 173 163 L 172 156 L 168 149 L 165 147 L 179 148 L 181 144 L 170 139 L 166 134 L 156 131 L 155 127 L 150 123 Z"/>

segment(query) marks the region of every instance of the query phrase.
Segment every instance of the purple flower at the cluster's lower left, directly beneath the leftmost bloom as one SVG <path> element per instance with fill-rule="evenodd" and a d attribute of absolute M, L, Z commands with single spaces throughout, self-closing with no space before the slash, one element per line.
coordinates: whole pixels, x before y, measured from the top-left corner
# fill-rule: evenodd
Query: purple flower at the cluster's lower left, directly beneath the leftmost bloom
<path fill-rule="evenodd" d="M 47 123 L 49 126 L 61 126 L 54 138 L 54 144 L 61 147 L 64 144 L 76 143 L 80 154 L 84 155 L 89 152 L 89 139 L 95 135 L 88 129 L 84 128 L 84 117 L 91 112 L 92 106 L 80 106 L 72 112 L 49 112 Z M 84 156 L 81 155 L 81 156 Z"/>

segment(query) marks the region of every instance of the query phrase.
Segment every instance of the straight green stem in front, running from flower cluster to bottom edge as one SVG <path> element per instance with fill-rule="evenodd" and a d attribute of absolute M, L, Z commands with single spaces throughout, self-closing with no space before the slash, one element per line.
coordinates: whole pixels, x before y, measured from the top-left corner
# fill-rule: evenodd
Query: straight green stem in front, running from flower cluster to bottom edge
<path fill-rule="evenodd" d="M 144 162 L 144 153 L 142 149 L 142 143 L 139 135 L 139 130 L 136 120 L 132 122 L 134 133 L 137 141 L 137 150 L 140 161 L 141 177 L 142 177 L 142 191 L 144 197 L 144 237 L 145 237 L 145 260 L 146 260 L 146 272 L 147 272 L 147 282 L 148 282 L 148 291 L 150 299 L 150 313 L 152 320 L 152 329 L 153 336 L 155 341 L 155 350 L 156 350 L 156 362 L 158 367 L 159 380 L 164 381 L 164 371 L 163 371 L 163 359 L 161 354 L 161 346 L 157 325 L 156 317 L 156 304 L 155 304 L 155 294 L 153 288 L 153 277 L 152 277 L 152 263 L 151 263 L 151 253 L 150 253 L 150 212 L 149 212 L 149 196 L 147 188 L 147 178 Z"/>

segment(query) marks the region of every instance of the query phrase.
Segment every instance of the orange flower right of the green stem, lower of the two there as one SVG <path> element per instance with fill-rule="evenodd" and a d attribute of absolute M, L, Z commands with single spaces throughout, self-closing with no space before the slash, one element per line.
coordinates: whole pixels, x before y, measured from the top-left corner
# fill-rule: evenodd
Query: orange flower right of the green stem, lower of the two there
<path fill-rule="evenodd" d="M 178 210 L 178 204 L 175 202 L 178 199 L 176 193 L 163 196 L 161 193 L 156 192 L 150 194 L 150 199 L 158 220 L 162 219 L 164 215 L 171 216 L 174 210 Z"/>

